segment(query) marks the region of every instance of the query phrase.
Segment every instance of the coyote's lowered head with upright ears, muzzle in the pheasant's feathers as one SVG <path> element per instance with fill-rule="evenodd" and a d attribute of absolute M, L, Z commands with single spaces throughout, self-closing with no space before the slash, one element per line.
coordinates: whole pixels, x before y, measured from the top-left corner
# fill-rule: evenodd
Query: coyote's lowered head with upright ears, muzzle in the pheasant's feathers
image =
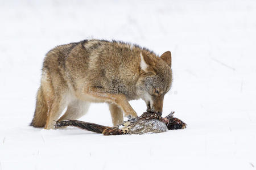
<path fill-rule="evenodd" d="M 160 57 L 141 52 L 141 98 L 146 102 L 147 111 L 162 114 L 164 95 L 172 83 L 171 52 Z"/>

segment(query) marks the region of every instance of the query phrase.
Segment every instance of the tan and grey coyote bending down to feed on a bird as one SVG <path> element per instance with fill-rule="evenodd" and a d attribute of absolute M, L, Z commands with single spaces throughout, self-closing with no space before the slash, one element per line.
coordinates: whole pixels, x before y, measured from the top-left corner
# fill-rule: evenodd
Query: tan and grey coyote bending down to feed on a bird
<path fill-rule="evenodd" d="M 146 48 L 114 40 L 60 45 L 44 58 L 31 125 L 52 129 L 56 120 L 83 116 L 92 102 L 109 104 L 114 126 L 122 124 L 123 114 L 137 117 L 129 100 L 143 99 L 147 111 L 161 115 L 171 84 L 170 51 L 159 57 Z"/>

